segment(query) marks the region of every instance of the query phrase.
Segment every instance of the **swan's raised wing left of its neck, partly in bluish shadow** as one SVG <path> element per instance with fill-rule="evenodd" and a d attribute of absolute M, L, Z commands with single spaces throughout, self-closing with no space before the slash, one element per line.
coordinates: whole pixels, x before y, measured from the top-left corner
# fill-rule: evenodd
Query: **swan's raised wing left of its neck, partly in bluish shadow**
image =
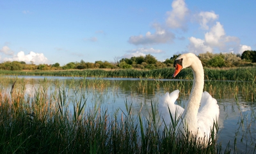
<path fill-rule="evenodd" d="M 166 125 L 170 125 L 170 123 L 172 122 L 168 107 L 170 108 L 170 112 L 172 114 L 173 119 L 175 118 L 175 113 L 176 117 L 178 118 L 184 111 L 184 109 L 181 106 L 174 104 L 174 102 L 179 97 L 179 92 L 179 90 L 174 90 L 171 94 L 166 92 L 166 94 L 159 99 L 159 115 L 163 117 Z"/>

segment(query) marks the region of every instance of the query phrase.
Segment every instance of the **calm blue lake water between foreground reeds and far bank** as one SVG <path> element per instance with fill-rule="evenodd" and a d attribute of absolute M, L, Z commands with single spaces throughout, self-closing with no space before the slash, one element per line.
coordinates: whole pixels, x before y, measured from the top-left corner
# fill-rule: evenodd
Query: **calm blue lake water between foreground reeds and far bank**
<path fill-rule="evenodd" d="M 33 94 L 45 80 L 42 76 L 19 76 L 19 78 L 26 80 L 25 87 L 28 95 Z M 192 81 L 184 80 L 72 77 L 47 77 L 47 80 L 49 93 L 54 91 L 56 83 L 63 85 L 63 88 L 67 89 L 68 100 L 71 103 L 74 98 L 82 97 L 83 100 L 87 99 L 86 108 L 100 106 L 111 113 L 116 109 L 125 112 L 125 102 L 127 102 L 132 103 L 132 113 L 136 114 L 141 110 L 145 116 L 148 116 L 151 101 L 157 104 L 161 95 L 175 89 L 180 90 L 176 104 L 184 108 L 192 86 Z M 86 83 L 86 86 L 77 88 L 79 85 L 82 87 L 81 83 Z M 240 92 L 243 84 L 234 81 L 214 81 L 214 83 L 205 81 L 204 90 L 209 92 L 220 106 L 218 142 L 221 142 L 223 148 L 229 143 L 230 148 L 236 147 L 239 153 L 245 153 L 246 147 L 247 153 L 248 151 L 253 153 L 256 145 L 256 102 L 253 98 L 255 94 L 248 97 L 243 90 Z M 236 90 L 237 92 L 234 92 Z"/>

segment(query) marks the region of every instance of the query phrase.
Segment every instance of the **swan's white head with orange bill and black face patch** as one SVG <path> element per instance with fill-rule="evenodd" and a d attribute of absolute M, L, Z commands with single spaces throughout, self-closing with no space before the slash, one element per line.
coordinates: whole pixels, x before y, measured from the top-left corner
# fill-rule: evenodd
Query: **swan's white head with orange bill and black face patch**
<path fill-rule="evenodd" d="M 198 59 L 198 57 L 196 57 L 194 53 L 184 53 L 177 57 L 173 64 L 173 66 L 175 67 L 175 71 L 172 77 L 174 78 L 175 76 L 177 76 L 177 74 L 179 74 L 182 69 L 191 66 L 191 64 L 193 64 L 196 59 Z"/>

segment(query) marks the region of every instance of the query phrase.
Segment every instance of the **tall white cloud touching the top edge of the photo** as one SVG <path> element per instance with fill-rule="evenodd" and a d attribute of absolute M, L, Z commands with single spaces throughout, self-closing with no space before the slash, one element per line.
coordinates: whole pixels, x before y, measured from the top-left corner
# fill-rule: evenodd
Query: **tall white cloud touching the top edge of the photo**
<path fill-rule="evenodd" d="M 186 29 L 186 17 L 189 15 L 189 10 L 184 0 L 175 0 L 172 3 L 172 11 L 167 11 L 168 15 L 166 24 L 172 29 Z"/>

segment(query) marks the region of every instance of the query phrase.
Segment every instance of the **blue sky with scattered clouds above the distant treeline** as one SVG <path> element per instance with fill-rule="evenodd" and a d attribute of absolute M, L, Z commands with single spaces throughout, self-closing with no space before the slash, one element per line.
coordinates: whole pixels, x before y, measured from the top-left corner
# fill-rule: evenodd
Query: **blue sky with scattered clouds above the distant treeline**
<path fill-rule="evenodd" d="M 0 1 L 0 62 L 256 50 L 256 1 Z"/>

